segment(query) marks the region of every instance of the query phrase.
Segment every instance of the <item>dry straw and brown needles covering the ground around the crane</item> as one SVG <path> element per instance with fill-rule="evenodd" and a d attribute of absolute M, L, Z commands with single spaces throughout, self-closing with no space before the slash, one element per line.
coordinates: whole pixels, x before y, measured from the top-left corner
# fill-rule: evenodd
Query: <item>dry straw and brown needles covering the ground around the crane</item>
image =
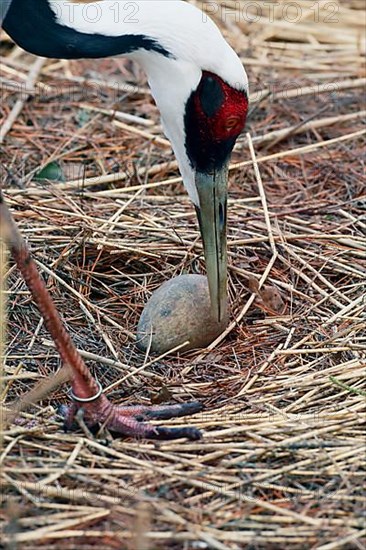
<path fill-rule="evenodd" d="M 252 83 L 252 155 L 244 135 L 231 170 L 232 323 L 163 360 L 135 347 L 143 305 L 204 263 L 145 78 L 120 59 L 40 63 L 3 37 L 3 188 L 78 348 L 115 402 L 167 386 L 206 405 L 197 443 L 63 434 L 66 386 L 22 413 L 0 455 L 9 549 L 364 547 L 365 12 L 331 2 L 332 23 L 321 2 L 316 22 L 313 4 L 298 25 L 283 2 L 271 24 L 267 3 L 252 24 L 216 14 Z M 35 181 L 50 160 L 65 182 Z M 7 279 L 9 404 L 60 365 L 11 265 Z"/>

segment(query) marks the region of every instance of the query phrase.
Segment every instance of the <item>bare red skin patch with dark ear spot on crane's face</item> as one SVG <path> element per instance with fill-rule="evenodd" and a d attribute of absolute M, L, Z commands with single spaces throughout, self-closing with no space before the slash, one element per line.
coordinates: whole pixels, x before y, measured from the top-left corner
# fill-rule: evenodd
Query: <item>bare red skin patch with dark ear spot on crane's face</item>
<path fill-rule="evenodd" d="M 248 112 L 245 92 L 232 88 L 215 74 L 203 72 L 194 106 L 201 128 L 213 141 L 235 139 L 244 129 Z"/>

